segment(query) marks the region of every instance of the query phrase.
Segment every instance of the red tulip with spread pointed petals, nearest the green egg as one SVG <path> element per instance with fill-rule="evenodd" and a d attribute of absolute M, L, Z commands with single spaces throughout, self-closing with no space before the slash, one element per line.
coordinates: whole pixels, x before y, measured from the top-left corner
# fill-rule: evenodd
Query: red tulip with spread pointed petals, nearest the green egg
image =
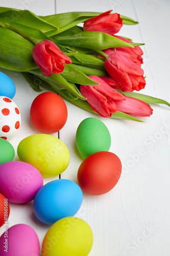
<path fill-rule="evenodd" d="M 96 86 L 80 86 L 81 94 L 87 98 L 91 109 L 100 116 L 110 117 L 118 108 L 114 100 L 124 101 L 125 96 L 111 88 L 104 80 L 98 76 L 89 76 L 95 82 Z"/>

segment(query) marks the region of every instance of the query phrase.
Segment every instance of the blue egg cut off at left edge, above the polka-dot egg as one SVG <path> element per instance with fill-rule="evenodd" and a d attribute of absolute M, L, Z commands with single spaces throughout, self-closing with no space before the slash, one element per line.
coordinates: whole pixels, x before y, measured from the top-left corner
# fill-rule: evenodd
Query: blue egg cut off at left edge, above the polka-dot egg
<path fill-rule="evenodd" d="M 14 82 L 6 74 L 0 72 L 0 96 L 6 96 L 10 99 L 14 97 L 16 88 Z"/>

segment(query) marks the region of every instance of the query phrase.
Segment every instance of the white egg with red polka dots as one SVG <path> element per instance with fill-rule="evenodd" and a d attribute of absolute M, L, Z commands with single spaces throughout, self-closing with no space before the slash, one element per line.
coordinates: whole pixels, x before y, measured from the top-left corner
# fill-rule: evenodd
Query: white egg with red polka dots
<path fill-rule="evenodd" d="M 21 115 L 15 102 L 0 96 L 0 137 L 11 139 L 19 130 Z"/>

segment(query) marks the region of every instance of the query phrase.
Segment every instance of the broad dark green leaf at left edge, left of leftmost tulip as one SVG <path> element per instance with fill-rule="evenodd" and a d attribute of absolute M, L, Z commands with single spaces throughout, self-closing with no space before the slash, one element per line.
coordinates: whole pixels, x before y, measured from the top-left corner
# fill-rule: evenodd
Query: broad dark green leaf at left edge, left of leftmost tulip
<path fill-rule="evenodd" d="M 4 28 L 0 28 L 0 67 L 27 71 L 37 68 L 32 58 L 34 45 L 21 35 Z"/>

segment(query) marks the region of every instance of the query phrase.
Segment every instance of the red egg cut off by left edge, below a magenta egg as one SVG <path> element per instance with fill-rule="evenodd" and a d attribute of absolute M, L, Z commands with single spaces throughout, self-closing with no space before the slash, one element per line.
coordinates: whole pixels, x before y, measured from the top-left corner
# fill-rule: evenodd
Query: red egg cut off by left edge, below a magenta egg
<path fill-rule="evenodd" d="M 0 227 L 2 227 L 8 221 L 10 214 L 10 206 L 8 199 L 0 193 Z"/>

